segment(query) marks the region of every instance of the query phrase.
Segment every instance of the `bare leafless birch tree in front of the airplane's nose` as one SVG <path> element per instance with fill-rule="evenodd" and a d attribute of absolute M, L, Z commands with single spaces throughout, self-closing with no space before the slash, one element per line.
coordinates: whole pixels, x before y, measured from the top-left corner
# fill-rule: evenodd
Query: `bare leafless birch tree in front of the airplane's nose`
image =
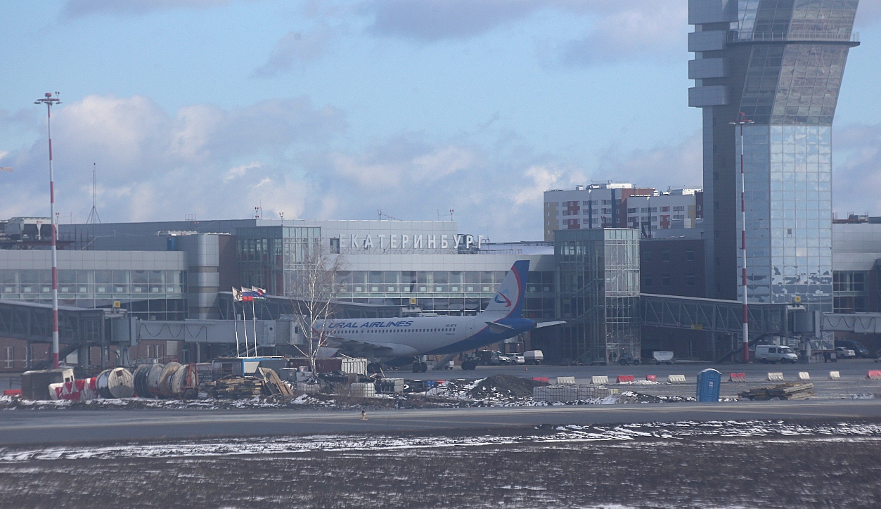
<path fill-rule="evenodd" d="M 327 327 L 337 309 L 337 272 L 343 269 L 341 254 L 331 254 L 322 239 L 307 239 L 294 247 L 292 253 L 302 262 L 292 272 L 289 297 L 294 321 L 300 326 L 305 345 L 297 349 L 309 360 L 312 373 L 317 373 L 315 360 L 328 343 Z"/>

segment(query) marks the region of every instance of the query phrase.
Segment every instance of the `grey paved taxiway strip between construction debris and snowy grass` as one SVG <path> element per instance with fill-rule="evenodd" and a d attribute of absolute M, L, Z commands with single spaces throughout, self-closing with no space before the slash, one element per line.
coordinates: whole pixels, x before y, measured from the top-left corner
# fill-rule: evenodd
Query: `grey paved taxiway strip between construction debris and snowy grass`
<path fill-rule="evenodd" d="M 881 420 L 881 400 L 661 403 L 473 409 L 360 410 L 7 410 L 0 444 L 500 430 L 540 424 L 678 421 Z"/>

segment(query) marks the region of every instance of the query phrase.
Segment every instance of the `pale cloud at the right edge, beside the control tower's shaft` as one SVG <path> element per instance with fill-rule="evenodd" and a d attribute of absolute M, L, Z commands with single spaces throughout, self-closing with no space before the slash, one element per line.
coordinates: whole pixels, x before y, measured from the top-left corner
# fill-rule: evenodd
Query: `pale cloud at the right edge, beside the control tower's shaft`
<path fill-rule="evenodd" d="M 881 216 L 881 124 L 851 124 L 833 136 L 833 209 Z"/>

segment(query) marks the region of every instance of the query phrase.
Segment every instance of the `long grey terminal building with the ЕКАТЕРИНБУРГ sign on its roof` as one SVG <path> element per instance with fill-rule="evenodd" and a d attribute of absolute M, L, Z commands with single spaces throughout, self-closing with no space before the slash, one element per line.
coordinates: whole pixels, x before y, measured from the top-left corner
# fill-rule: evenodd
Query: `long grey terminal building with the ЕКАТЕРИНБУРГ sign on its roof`
<path fill-rule="evenodd" d="M 529 260 L 524 316 L 567 323 L 533 331 L 519 340 L 527 344 L 508 348 L 529 346 L 544 350 L 549 360 L 566 362 L 639 356 L 639 232 L 559 233 L 553 242 L 501 245 L 458 232 L 450 221 L 60 225 L 59 299 L 71 309 L 119 310 L 144 323 L 146 331 L 173 327 L 172 322 L 231 320 L 233 287 L 257 286 L 270 299 L 256 318 L 279 321 L 304 253 L 318 248 L 339 258 L 336 299 L 350 313 L 470 315 L 487 306 L 515 261 Z M 48 250 L 14 242 L 8 247 L 0 249 L 0 306 L 47 305 L 52 295 Z M 131 356 L 152 357 L 148 353 L 155 355 L 159 344 L 153 347 Z M 163 348 L 167 353 L 187 345 Z M 12 351 L 7 357 L 14 365 L 26 356 Z"/>

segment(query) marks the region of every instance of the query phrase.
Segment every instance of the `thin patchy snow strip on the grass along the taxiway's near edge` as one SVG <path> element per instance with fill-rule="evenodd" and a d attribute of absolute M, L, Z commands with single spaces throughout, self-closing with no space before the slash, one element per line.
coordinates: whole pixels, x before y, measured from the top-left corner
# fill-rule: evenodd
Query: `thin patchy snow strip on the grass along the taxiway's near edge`
<path fill-rule="evenodd" d="M 115 460 L 131 458 L 189 458 L 301 454 L 314 452 L 393 451 L 426 448 L 553 443 L 619 442 L 634 440 L 810 438 L 881 441 L 881 424 L 794 424 L 784 421 L 680 421 L 672 423 L 536 428 L 519 436 L 364 436 L 313 435 L 248 439 L 204 439 L 162 443 L 123 443 L 108 446 L 0 447 L 0 464 L 22 461 Z"/>

